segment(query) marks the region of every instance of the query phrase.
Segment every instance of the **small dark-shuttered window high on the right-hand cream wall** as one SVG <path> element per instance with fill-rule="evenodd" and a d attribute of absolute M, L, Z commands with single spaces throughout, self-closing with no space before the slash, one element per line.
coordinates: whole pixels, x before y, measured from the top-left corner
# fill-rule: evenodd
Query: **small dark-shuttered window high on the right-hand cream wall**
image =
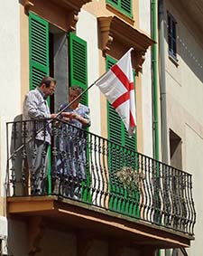
<path fill-rule="evenodd" d="M 168 13 L 168 45 L 169 54 L 175 60 L 177 60 L 177 31 L 176 21 L 173 16 Z"/>

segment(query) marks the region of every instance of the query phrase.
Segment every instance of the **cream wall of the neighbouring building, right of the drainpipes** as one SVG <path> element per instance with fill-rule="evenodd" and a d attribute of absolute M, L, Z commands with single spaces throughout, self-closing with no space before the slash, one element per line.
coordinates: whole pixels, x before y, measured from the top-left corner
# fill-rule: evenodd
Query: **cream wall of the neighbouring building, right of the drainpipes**
<path fill-rule="evenodd" d="M 176 6 L 168 5 L 167 10 L 177 21 L 178 52 L 177 66 L 168 58 L 166 33 L 168 126 L 182 138 L 183 170 L 192 174 L 192 193 L 197 211 L 197 223 L 195 241 L 191 242 L 188 250 L 189 256 L 203 255 L 203 48 L 202 42 L 199 43 L 194 33 L 191 33 Z"/>

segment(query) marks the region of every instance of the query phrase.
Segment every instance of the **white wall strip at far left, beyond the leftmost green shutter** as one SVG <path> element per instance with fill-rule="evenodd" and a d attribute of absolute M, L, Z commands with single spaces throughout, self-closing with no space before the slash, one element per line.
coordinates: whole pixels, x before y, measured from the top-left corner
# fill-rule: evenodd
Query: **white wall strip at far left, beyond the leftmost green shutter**
<path fill-rule="evenodd" d="M 5 122 L 20 113 L 20 15 L 16 0 L 1 1 L 0 8 L 0 196 L 6 169 Z"/>

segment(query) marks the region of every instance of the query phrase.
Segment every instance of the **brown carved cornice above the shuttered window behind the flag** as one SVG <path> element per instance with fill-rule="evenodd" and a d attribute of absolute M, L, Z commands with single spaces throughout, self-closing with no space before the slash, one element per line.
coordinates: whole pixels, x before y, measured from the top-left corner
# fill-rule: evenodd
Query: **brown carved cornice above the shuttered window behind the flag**
<path fill-rule="evenodd" d="M 103 55 L 106 56 L 108 53 L 119 59 L 129 48 L 133 47 L 134 70 L 142 71 L 145 52 L 155 42 L 116 16 L 99 17 L 97 20 L 100 27 L 100 47 Z M 111 47 L 113 43 L 114 47 Z"/>

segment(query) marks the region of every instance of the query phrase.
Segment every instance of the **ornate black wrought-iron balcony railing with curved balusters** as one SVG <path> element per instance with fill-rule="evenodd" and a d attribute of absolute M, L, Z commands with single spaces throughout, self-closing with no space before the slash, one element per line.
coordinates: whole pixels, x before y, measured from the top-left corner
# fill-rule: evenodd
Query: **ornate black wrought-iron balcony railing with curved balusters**
<path fill-rule="evenodd" d="M 48 125 L 40 127 L 45 145 Z M 50 165 L 46 176 L 44 149 L 41 194 L 57 194 L 193 235 L 191 175 L 61 121 L 49 127 Z M 7 196 L 36 196 L 34 166 L 26 160 L 29 154 L 36 158 L 36 128 L 36 121 L 32 126 L 30 121 L 7 123 Z"/>

